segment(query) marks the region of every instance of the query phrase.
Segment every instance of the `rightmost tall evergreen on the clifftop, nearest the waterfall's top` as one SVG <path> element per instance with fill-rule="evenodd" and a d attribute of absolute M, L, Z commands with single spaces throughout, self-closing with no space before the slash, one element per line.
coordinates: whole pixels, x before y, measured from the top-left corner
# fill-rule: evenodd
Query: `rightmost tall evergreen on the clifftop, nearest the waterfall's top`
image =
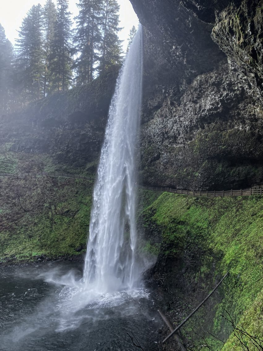
<path fill-rule="evenodd" d="M 118 32 L 122 29 L 119 27 L 119 11 L 117 0 L 104 0 L 99 72 L 104 72 L 122 61 L 122 41 L 118 37 Z"/>

